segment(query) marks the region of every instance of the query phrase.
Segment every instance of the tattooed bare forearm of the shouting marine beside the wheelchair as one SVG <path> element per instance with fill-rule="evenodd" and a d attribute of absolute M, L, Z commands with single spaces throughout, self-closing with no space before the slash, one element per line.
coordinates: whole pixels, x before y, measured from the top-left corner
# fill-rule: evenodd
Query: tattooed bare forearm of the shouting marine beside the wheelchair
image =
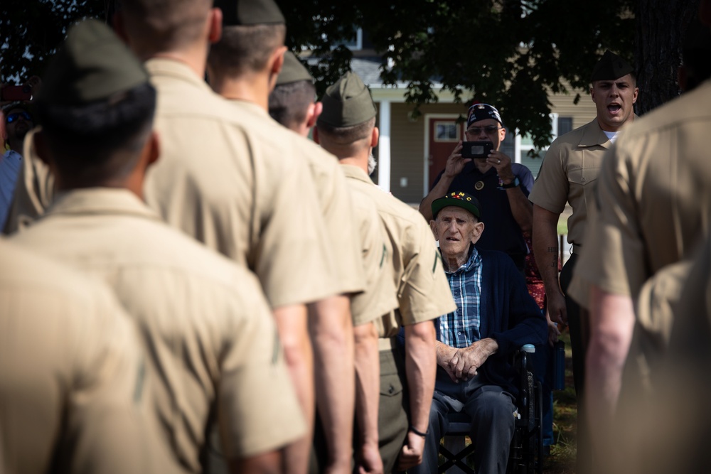
<path fill-rule="evenodd" d="M 559 216 L 537 205 L 533 206 L 533 257 L 546 294 L 560 292 L 557 230 Z"/>

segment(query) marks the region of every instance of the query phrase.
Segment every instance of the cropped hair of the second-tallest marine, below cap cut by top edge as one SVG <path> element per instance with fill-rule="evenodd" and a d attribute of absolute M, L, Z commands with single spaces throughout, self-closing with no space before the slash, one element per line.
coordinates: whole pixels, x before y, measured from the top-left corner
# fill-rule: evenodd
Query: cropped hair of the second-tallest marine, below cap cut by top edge
<path fill-rule="evenodd" d="M 210 47 L 208 64 L 230 76 L 261 71 L 286 36 L 283 24 L 226 26 L 220 41 Z"/>

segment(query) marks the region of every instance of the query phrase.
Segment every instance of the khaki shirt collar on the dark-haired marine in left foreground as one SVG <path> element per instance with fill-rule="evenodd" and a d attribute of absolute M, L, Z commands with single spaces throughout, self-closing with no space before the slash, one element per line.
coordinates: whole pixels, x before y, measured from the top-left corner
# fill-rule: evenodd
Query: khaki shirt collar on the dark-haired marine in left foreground
<path fill-rule="evenodd" d="M 73 215 L 134 215 L 160 221 L 137 195 L 122 188 L 82 188 L 55 195 L 49 214 Z"/>

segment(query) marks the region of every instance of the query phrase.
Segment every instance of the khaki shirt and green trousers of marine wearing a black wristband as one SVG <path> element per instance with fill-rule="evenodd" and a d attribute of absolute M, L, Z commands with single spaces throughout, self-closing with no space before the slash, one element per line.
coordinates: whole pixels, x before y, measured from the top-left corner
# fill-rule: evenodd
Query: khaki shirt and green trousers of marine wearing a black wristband
<path fill-rule="evenodd" d="M 397 331 L 405 325 L 439 318 L 456 309 L 451 297 L 442 257 L 422 215 L 385 193 L 362 169 L 341 165 L 349 183 L 367 194 L 378 208 L 387 233 L 387 252 L 392 255 L 393 281 L 399 308 L 378 322 L 380 335 L 380 406 L 378 435 L 385 472 L 392 472 L 407 436 L 407 412 L 403 406 L 405 367 L 395 357 Z M 433 349 L 434 350 L 434 349 Z"/>

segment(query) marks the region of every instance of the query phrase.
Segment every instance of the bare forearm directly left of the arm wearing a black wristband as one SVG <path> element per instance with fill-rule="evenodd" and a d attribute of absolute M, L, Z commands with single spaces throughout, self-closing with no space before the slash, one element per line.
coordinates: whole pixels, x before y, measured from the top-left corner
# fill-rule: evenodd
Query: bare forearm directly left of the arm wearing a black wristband
<path fill-rule="evenodd" d="M 380 402 L 380 355 L 378 331 L 373 323 L 353 328 L 355 335 L 355 419 L 358 446 L 378 446 L 378 404 Z"/>

